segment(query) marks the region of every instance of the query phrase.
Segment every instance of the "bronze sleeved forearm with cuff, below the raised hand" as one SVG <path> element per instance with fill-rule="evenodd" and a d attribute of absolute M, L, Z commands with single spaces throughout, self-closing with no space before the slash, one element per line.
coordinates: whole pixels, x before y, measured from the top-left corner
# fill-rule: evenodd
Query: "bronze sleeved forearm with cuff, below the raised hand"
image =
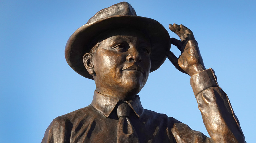
<path fill-rule="evenodd" d="M 213 142 L 243 143 L 244 135 L 225 92 L 212 69 L 191 76 L 191 86 Z"/>

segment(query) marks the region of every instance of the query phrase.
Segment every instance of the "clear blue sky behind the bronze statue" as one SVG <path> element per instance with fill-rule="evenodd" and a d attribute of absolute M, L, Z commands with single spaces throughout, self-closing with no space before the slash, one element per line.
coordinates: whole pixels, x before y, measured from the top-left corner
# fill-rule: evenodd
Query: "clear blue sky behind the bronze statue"
<path fill-rule="evenodd" d="M 92 101 L 95 84 L 65 61 L 70 35 L 97 11 L 121 1 L 0 1 L 0 142 L 41 142 L 57 116 Z M 137 15 L 193 31 L 206 68 L 227 93 L 247 142 L 255 133 L 254 1 L 129 0 Z M 170 37 L 178 38 L 168 30 Z M 179 51 L 172 45 L 171 51 Z M 139 93 L 142 106 L 209 136 L 190 78 L 166 60 Z"/>

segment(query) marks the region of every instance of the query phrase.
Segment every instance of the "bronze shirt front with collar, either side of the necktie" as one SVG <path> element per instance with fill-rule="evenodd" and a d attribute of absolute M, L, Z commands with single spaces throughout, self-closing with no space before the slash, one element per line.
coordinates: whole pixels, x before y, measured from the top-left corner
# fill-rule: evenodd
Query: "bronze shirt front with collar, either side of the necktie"
<path fill-rule="evenodd" d="M 95 91 L 91 105 L 55 118 L 47 128 L 42 142 L 117 142 L 118 102 L 116 98 Z M 175 142 L 170 133 L 171 126 L 178 122 L 177 120 L 165 114 L 143 109 L 138 95 L 126 103 L 133 110 L 129 119 L 141 143 Z"/>

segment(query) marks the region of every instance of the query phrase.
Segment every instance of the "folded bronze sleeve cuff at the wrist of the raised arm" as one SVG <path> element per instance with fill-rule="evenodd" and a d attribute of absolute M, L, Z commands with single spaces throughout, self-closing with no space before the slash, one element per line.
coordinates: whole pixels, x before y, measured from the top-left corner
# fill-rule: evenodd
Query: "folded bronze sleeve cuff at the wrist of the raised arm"
<path fill-rule="evenodd" d="M 195 96 L 207 88 L 219 86 L 217 77 L 211 68 L 192 75 L 190 78 L 190 85 Z"/>

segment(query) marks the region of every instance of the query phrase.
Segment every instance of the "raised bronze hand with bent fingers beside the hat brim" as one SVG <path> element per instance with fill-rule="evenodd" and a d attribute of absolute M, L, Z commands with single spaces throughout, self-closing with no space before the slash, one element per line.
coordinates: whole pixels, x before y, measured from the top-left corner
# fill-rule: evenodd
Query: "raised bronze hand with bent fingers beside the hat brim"
<path fill-rule="evenodd" d="M 205 70 L 203 59 L 197 45 L 197 41 L 191 30 L 182 24 L 170 24 L 169 29 L 177 34 L 181 40 L 170 38 L 171 44 L 177 46 L 181 55 L 177 58 L 171 51 L 166 52 L 166 56 L 173 65 L 181 72 L 190 76 Z"/>

